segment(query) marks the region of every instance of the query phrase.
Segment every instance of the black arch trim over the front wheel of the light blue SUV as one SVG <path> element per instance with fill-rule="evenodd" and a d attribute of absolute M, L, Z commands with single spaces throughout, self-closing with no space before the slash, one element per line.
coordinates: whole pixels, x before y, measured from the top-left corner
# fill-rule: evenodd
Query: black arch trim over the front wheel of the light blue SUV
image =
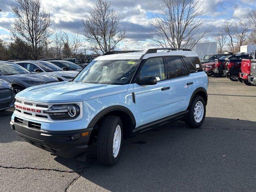
<path fill-rule="evenodd" d="M 134 127 L 136 126 L 136 120 L 135 120 L 133 113 L 128 108 L 126 108 L 122 105 L 116 105 L 116 106 L 107 107 L 104 110 L 100 111 L 98 114 L 96 114 L 96 116 L 94 116 L 94 118 L 89 123 L 88 127 L 94 127 L 95 124 L 98 122 L 98 120 L 100 120 L 100 118 L 102 118 L 102 116 L 104 116 L 110 112 L 114 112 L 114 111 L 122 111 L 122 112 L 125 112 L 126 114 L 128 114 L 128 116 L 132 120 L 133 126 Z"/>

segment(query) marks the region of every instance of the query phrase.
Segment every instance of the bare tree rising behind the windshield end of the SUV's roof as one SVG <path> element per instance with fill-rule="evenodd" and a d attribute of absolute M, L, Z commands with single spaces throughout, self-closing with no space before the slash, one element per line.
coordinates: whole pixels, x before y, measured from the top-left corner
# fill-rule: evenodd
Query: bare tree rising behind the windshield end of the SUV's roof
<path fill-rule="evenodd" d="M 120 41 L 126 38 L 125 29 L 121 29 L 120 17 L 111 8 L 111 3 L 97 0 L 88 17 L 83 20 L 84 36 L 90 43 L 90 50 L 105 53 L 114 50 Z"/>

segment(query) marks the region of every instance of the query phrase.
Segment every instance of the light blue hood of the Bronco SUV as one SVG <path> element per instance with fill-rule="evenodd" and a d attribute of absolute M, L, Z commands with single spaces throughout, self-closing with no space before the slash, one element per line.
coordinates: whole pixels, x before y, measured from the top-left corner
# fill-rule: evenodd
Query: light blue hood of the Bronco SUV
<path fill-rule="evenodd" d="M 79 102 L 120 94 L 127 90 L 128 85 L 58 82 L 27 88 L 16 94 L 16 98 L 47 103 Z"/>

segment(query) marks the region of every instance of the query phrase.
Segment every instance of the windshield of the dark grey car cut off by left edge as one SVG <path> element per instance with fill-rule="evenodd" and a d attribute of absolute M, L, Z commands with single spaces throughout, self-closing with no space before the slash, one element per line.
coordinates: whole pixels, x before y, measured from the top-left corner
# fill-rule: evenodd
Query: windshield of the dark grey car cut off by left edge
<path fill-rule="evenodd" d="M 0 72 L 3 75 L 17 75 L 30 73 L 28 70 L 17 64 L 0 64 Z"/>

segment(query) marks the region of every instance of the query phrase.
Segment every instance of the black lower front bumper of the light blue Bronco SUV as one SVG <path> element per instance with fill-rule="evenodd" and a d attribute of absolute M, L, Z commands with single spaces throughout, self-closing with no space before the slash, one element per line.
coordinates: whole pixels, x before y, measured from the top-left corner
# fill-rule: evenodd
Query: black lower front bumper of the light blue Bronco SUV
<path fill-rule="evenodd" d="M 10 126 L 30 144 L 67 158 L 79 156 L 88 150 L 89 138 L 93 130 L 93 128 L 86 128 L 72 131 L 45 131 L 29 128 L 26 122 L 16 123 L 13 120 Z M 89 132 L 89 134 L 82 136 L 84 132 Z"/>

